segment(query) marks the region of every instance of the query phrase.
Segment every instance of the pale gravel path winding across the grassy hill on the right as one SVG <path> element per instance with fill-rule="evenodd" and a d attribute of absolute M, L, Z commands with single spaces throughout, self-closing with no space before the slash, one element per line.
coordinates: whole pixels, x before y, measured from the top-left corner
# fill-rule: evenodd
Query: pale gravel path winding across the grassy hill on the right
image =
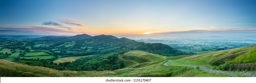
<path fill-rule="evenodd" d="M 172 60 L 169 60 L 168 62 L 165 62 L 164 65 L 165 66 L 170 66 L 170 65 L 167 65 L 167 63 L 169 63 L 170 61 Z M 176 66 L 176 65 L 174 65 Z M 190 66 L 190 67 L 197 67 L 196 65 L 177 65 L 177 66 Z M 213 70 L 207 66 L 199 66 L 200 69 L 204 70 L 204 71 L 208 71 L 210 73 L 215 73 L 215 74 L 227 74 L 229 76 L 243 76 L 243 75 L 246 75 L 246 76 L 250 76 L 250 77 L 256 77 L 256 73 L 255 72 L 252 72 L 252 71 L 247 71 L 247 72 L 244 72 L 244 71 L 222 71 L 222 70 Z"/>

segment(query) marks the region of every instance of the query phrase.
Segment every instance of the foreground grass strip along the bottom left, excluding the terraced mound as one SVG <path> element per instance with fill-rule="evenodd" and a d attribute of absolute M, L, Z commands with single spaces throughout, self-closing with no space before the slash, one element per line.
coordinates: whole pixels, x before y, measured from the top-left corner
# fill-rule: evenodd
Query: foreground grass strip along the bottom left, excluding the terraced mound
<path fill-rule="evenodd" d="M 51 68 L 27 66 L 0 60 L 0 76 L 4 77 L 228 77 L 186 66 L 164 66 L 159 60 L 142 68 L 123 68 L 114 71 L 58 71 Z"/>

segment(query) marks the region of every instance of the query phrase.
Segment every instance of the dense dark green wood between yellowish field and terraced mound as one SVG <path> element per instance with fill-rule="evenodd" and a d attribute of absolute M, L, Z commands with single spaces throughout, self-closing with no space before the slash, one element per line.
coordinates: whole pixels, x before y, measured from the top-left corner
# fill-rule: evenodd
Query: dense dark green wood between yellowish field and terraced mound
<path fill-rule="evenodd" d="M 123 61 L 118 61 L 118 55 L 124 54 L 128 50 L 111 53 L 108 55 L 94 55 L 91 57 L 79 58 L 73 62 L 59 63 L 59 66 L 74 71 L 113 71 L 124 67 Z"/>

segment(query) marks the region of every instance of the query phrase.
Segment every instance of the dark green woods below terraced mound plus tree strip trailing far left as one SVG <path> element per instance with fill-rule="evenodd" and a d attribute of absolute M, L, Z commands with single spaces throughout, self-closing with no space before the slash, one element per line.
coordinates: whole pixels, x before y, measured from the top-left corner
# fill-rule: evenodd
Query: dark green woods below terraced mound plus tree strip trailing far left
<path fill-rule="evenodd" d="M 57 70 L 71 70 L 71 71 L 113 71 L 123 68 L 125 65 L 123 61 L 118 61 L 118 55 L 122 55 L 128 50 L 111 53 L 108 55 L 94 55 L 91 57 L 79 58 L 76 61 L 59 63 L 53 62 L 53 59 L 24 59 L 15 60 L 14 62 L 27 64 L 29 66 L 42 66 L 53 68 Z M 26 61 L 24 61 L 26 60 Z"/>

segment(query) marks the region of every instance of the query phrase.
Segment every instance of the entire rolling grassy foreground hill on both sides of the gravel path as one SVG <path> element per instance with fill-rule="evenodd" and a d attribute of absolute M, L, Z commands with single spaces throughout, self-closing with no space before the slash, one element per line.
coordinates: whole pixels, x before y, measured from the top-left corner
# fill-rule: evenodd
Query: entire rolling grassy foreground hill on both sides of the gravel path
<path fill-rule="evenodd" d="M 188 66 L 165 66 L 164 63 L 167 60 L 172 60 L 168 63 L 169 65 L 213 66 L 223 64 L 226 60 L 234 60 L 254 49 L 256 46 L 175 57 L 165 57 L 143 51 L 129 51 L 118 55 L 118 60 L 124 61 L 125 68 L 114 71 L 59 71 L 0 60 L 0 75 L 15 77 L 228 77 L 225 74 L 209 73 Z"/>

